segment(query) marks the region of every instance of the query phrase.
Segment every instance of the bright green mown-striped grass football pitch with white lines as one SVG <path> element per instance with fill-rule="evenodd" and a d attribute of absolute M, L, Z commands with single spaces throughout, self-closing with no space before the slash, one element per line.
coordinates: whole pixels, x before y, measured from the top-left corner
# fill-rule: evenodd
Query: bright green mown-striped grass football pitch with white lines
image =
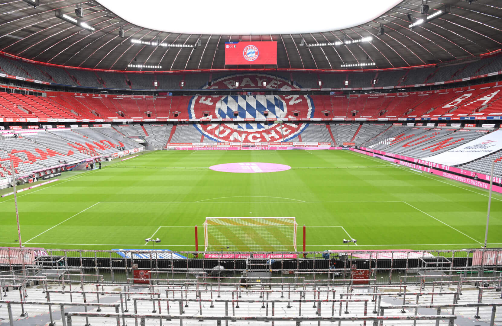
<path fill-rule="evenodd" d="M 272 173 L 207 169 L 232 162 L 291 166 Z M 72 175 L 73 174 L 73 175 Z M 349 150 L 154 151 L 18 195 L 23 244 L 68 249 L 191 250 L 206 217 L 294 217 L 298 250 L 480 248 L 488 192 Z M 7 192 L 7 191 L 5 191 Z M 489 247 L 502 244 L 502 196 Z M 18 246 L 14 198 L 0 200 L 0 246 Z"/>

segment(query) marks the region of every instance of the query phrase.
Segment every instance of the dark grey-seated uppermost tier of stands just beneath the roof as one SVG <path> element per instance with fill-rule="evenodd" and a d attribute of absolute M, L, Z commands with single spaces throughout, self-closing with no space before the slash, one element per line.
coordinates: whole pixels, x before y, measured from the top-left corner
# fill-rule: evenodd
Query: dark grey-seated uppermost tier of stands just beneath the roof
<path fill-rule="evenodd" d="M 143 74 L 135 71 L 113 73 L 77 70 L 15 59 L 0 54 L 0 73 L 10 78 L 84 88 L 120 90 L 197 90 L 197 89 L 277 89 L 289 85 L 309 89 L 400 88 L 425 84 L 444 84 L 465 78 L 486 77 L 502 70 L 502 55 L 477 58 L 468 63 L 450 63 L 437 67 L 374 72 L 302 73 L 287 71 L 264 73 L 257 80 L 256 73 L 244 73 L 232 78 L 231 73 Z M 235 84 L 238 82 L 238 84 Z M 155 86 L 157 83 L 157 86 Z"/>

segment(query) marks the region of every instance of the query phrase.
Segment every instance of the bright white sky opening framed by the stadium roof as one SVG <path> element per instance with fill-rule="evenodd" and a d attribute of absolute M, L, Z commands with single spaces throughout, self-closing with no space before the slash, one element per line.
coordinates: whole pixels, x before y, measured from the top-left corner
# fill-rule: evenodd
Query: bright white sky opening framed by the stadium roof
<path fill-rule="evenodd" d="M 400 2 L 99 0 L 122 19 L 144 28 L 172 33 L 231 35 L 336 31 L 370 22 Z"/>

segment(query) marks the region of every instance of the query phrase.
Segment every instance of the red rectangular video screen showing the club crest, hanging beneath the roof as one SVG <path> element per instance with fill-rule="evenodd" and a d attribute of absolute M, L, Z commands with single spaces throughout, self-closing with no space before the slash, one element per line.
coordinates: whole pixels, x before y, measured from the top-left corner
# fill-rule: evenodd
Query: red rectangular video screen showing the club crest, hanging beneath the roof
<path fill-rule="evenodd" d="M 277 65 L 277 42 L 225 42 L 225 65 Z"/>

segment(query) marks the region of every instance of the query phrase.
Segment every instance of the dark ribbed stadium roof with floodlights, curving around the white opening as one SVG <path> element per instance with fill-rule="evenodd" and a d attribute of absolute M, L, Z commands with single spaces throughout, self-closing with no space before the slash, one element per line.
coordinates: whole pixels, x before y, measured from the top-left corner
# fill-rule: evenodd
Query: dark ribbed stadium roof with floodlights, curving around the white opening
<path fill-rule="evenodd" d="M 82 4 L 82 20 L 92 26 L 94 32 L 56 17 L 55 12 L 60 9 L 61 13 L 76 18 L 77 4 Z M 295 69 L 340 69 L 342 64 L 367 62 L 374 62 L 376 68 L 406 67 L 440 63 L 502 48 L 502 3 L 499 0 L 473 0 L 472 4 L 468 0 L 431 0 L 428 1 L 430 10 L 427 15 L 420 14 L 421 4 L 422 0 L 403 1 L 378 18 L 338 31 L 209 35 L 159 32 L 137 26 L 124 21 L 97 1 L 40 0 L 40 5 L 33 8 L 22 0 L 7 0 L 0 3 L 0 50 L 31 60 L 85 68 L 128 70 L 128 64 L 133 63 L 162 66 L 160 70 L 193 70 L 224 68 L 224 42 L 238 40 L 277 41 L 278 68 Z M 142 2 L 138 5 L 142 6 Z M 450 5 L 451 13 L 412 30 L 408 28 L 407 15 L 410 12 L 415 22 L 434 14 L 444 5 Z M 322 11 L 322 8 L 316 8 Z M 172 14 L 166 13 L 166 19 L 169 15 Z M 185 16 L 187 24 L 193 20 L 211 24 L 212 19 L 218 19 L 204 16 L 191 5 L 175 15 Z M 268 15 L 279 24 L 289 19 L 281 12 Z M 322 19 L 321 13 L 319 15 Z M 234 21 L 239 22 L 238 19 Z M 380 24 L 385 28 L 385 34 L 381 36 L 378 35 Z M 126 38 L 118 36 L 122 26 Z M 371 36 L 373 41 L 347 46 L 300 45 L 302 41 L 304 44 L 341 42 L 344 35 L 346 40 Z M 132 45 L 130 40 L 151 42 L 157 36 L 167 44 L 200 46 L 164 48 Z"/>

